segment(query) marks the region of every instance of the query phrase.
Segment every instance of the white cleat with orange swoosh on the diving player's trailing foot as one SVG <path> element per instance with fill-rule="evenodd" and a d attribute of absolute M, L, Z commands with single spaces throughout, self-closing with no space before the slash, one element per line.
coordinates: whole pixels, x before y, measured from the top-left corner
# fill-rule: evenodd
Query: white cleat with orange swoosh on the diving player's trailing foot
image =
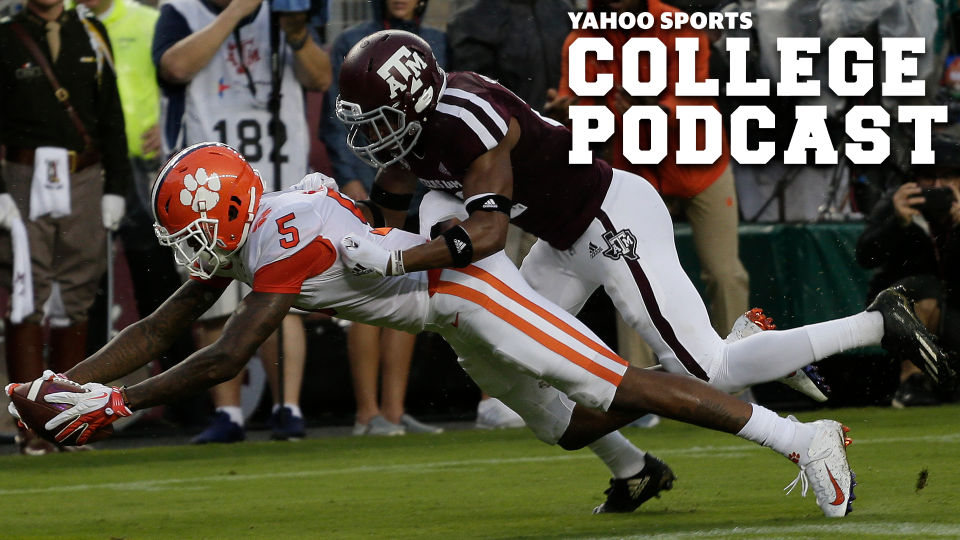
<path fill-rule="evenodd" d="M 789 418 L 798 422 L 792 416 Z M 812 425 L 816 426 L 817 433 L 806 456 L 791 458 L 800 466 L 800 474 L 783 489 L 789 495 L 799 483 L 801 494 L 806 497 L 807 489 L 813 486 L 823 515 L 843 517 L 853 511 L 853 501 L 857 498 L 853 493 L 856 475 L 847 461 L 847 446 L 853 442 L 847 437 L 850 428 L 834 420 L 817 420 Z"/>

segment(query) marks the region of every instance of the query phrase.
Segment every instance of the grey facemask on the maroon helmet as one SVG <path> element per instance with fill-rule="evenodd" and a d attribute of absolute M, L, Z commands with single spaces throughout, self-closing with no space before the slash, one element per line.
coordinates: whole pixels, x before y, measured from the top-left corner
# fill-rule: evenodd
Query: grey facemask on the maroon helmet
<path fill-rule="evenodd" d="M 420 122 L 407 124 L 399 109 L 382 106 L 363 112 L 359 105 L 337 97 L 337 118 L 347 126 L 347 146 L 365 163 L 385 168 L 413 150 L 422 131 Z"/>

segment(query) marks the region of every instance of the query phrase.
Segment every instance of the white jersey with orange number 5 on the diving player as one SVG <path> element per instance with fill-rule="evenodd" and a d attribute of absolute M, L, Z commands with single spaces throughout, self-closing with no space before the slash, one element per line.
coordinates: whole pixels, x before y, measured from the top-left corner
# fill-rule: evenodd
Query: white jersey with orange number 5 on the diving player
<path fill-rule="evenodd" d="M 236 279 L 255 292 L 299 294 L 294 305 L 305 311 L 422 331 L 429 316 L 427 272 L 385 279 L 354 276 L 337 252 L 340 239 L 351 233 L 387 250 L 425 242 L 399 229 L 372 229 L 353 201 L 333 190 L 266 193 L 246 243 L 208 283 L 226 287 Z"/>

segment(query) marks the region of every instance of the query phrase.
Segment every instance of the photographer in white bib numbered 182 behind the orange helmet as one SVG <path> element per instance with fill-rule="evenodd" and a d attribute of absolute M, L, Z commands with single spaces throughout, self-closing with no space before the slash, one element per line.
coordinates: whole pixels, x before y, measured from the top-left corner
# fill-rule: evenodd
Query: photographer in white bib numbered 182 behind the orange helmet
<path fill-rule="evenodd" d="M 303 89 L 324 91 L 331 77 L 329 57 L 311 36 L 306 13 L 275 16 L 282 30 L 283 66 L 277 130 L 271 127 L 267 108 L 272 80 L 269 4 L 262 0 L 171 0 L 160 8 L 153 42 L 153 61 L 166 97 L 162 120 L 165 149 L 203 141 L 235 146 L 260 172 L 268 191 L 289 187 L 306 174 L 309 135 Z M 277 135 L 279 148 L 274 147 L 272 135 Z M 280 178 L 274 174 L 275 159 L 281 163 Z M 198 170 L 197 184 L 206 185 L 208 173 L 214 172 Z M 295 229 L 291 234 L 298 238 Z M 224 293 L 202 317 L 198 346 L 217 340 L 227 317 L 249 292 L 236 283 L 230 287 L 234 289 Z M 277 382 L 278 346 L 268 341 L 260 351 L 274 397 L 271 437 L 299 439 L 305 434 L 299 398 L 306 336 L 297 315 L 288 316 L 282 328 L 283 403 Z M 244 439 L 241 377 L 213 389 L 217 415 L 194 442 Z"/>

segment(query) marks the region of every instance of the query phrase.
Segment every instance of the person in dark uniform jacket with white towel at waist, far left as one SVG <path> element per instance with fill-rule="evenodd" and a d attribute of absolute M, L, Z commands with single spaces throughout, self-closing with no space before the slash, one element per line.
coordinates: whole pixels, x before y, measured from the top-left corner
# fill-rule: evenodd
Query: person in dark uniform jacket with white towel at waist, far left
<path fill-rule="evenodd" d="M 80 11 L 83 11 L 81 13 Z M 43 306 L 59 297 L 49 366 L 63 373 L 86 353 L 87 310 L 106 269 L 106 230 L 124 214 L 130 179 L 123 110 L 109 40 L 86 9 L 63 0 L 30 0 L 0 24 L 0 227 L 29 238 L 33 310 L 7 321 L 10 380 L 43 372 Z M 21 221 L 21 216 L 29 218 Z M 2 280 L 11 280 L 10 237 L 0 248 Z M 21 285 L 22 286 L 22 285 Z M 22 319 L 21 319 L 22 316 Z M 21 452 L 54 450 L 21 430 Z"/>

